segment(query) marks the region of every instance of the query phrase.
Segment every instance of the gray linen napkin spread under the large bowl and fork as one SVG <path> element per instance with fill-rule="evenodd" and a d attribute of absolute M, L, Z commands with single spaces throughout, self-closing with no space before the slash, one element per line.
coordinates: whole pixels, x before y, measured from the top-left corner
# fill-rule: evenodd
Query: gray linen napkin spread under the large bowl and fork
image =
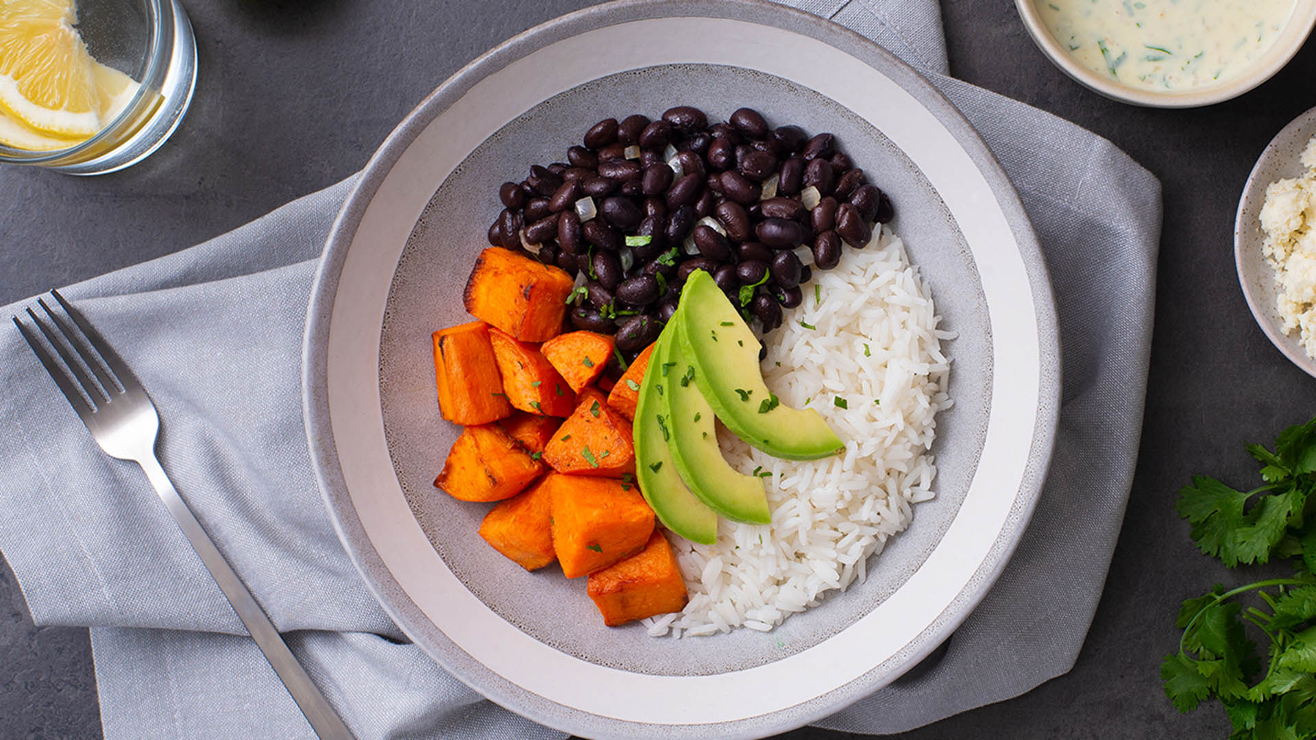
<path fill-rule="evenodd" d="M 899 732 L 1023 694 L 1079 652 L 1138 446 L 1159 183 L 1088 132 L 945 76 L 934 0 L 788 4 L 929 72 L 1019 188 L 1059 303 L 1059 438 L 1017 553 L 940 664 L 819 723 Z M 559 737 L 407 644 L 321 504 L 301 431 L 301 332 L 350 187 L 64 295 L 150 390 L 164 467 L 359 737 Z M 0 332 L 0 550 L 38 624 L 91 625 L 105 736 L 311 737 L 141 471 L 101 454 L 17 332 Z"/>

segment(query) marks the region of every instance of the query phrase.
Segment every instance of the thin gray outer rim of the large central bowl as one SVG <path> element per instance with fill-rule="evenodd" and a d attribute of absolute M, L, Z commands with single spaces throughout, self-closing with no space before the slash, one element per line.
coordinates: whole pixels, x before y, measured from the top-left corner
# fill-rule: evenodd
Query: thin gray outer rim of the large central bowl
<path fill-rule="evenodd" d="M 995 583 L 996 578 L 1009 562 L 1011 556 L 1026 531 L 1033 510 L 1041 496 L 1041 489 L 1045 483 L 1049 462 L 1054 450 L 1061 406 L 1061 348 L 1054 292 L 1041 246 L 1037 242 L 1037 237 L 1032 229 L 1028 215 L 1023 208 L 1019 194 L 1005 175 L 1000 162 L 987 147 L 976 129 L 973 128 L 967 119 L 954 108 L 949 99 L 946 99 L 945 95 L 942 95 L 928 78 L 915 71 L 874 41 L 865 38 L 855 32 L 812 13 L 770 3 L 769 0 L 701 0 L 699 3 L 700 12 L 688 13 L 697 14 L 700 17 L 732 17 L 719 13 L 719 9 L 730 7 L 741 8 L 742 11 L 753 9 L 753 12 L 761 14 L 776 14 L 779 18 L 784 17 L 791 24 L 790 26 L 779 28 L 790 28 L 797 33 L 805 33 L 800 30 L 800 26 L 808 26 L 808 29 L 813 33 L 805 33 L 807 36 L 813 36 L 824 43 L 841 49 L 846 54 L 855 55 L 855 47 L 861 49 L 867 58 L 862 55 L 857 55 L 857 58 L 866 65 L 878 68 L 883 75 L 888 76 L 894 83 L 915 97 L 920 105 L 928 109 L 930 115 L 946 126 L 973 163 L 978 167 L 979 172 L 991 187 L 996 205 L 1000 208 L 1001 215 L 1009 226 L 1015 238 L 1015 245 L 1019 249 L 1020 258 L 1024 265 L 1026 280 L 1033 288 L 1032 298 L 1034 303 L 1038 346 L 1038 407 L 1036 410 L 1033 440 L 1029 448 L 1026 465 L 1021 475 L 1019 490 L 1015 491 L 1015 500 L 1011 507 L 1012 515 L 1017 512 L 1017 517 L 1013 519 L 1016 524 L 1012 528 L 1003 528 L 1001 532 L 996 535 L 996 539 L 992 541 L 983 564 L 974 571 L 970 585 L 965 586 L 951 604 L 946 607 L 946 611 L 951 611 L 957 603 L 963 602 L 965 606 L 962 607 L 962 612 L 945 621 L 936 620 L 932 625 L 925 628 L 920 636 L 926 637 L 923 639 L 921 643 L 919 639 L 911 643 L 916 645 L 916 649 L 908 653 L 908 660 L 904 666 L 884 677 L 884 679 L 879 683 L 865 683 L 865 678 L 869 677 L 873 670 L 879 668 L 880 664 L 879 666 L 870 669 L 869 673 L 861 675 L 859 678 L 801 704 L 784 707 L 763 715 L 712 724 L 645 726 L 628 720 L 592 715 L 574 707 L 559 704 L 551 699 L 544 699 L 542 697 L 537 698 L 540 700 L 549 702 L 555 707 L 561 707 L 566 711 L 571 720 L 563 720 L 558 716 L 532 716 L 525 704 L 517 700 L 519 698 L 522 698 L 522 694 L 525 694 L 524 689 L 488 670 L 483 666 L 483 664 L 475 665 L 483 668 L 488 675 L 482 675 L 486 682 L 476 685 L 472 678 L 463 674 L 459 666 L 451 666 L 447 661 L 442 660 L 441 656 L 436 654 L 436 650 L 432 650 L 422 640 L 417 640 L 417 629 L 412 623 L 412 618 L 395 610 L 390 603 L 390 598 L 400 595 L 405 600 L 403 607 L 409 606 L 412 610 L 418 611 L 418 607 L 416 607 L 416 604 L 411 602 L 409 596 L 407 596 L 400 589 L 396 589 L 399 594 L 386 594 L 386 591 L 390 590 L 390 586 L 397 586 L 396 582 L 380 583 L 375 581 L 372 573 L 382 570 L 387 574 L 388 570 L 380 560 L 379 553 L 372 545 L 368 544 L 368 540 L 365 540 L 368 545 L 365 550 L 358 552 L 354 546 L 354 542 L 363 541 L 365 531 L 361 521 L 351 511 L 350 499 L 345 498 L 349 494 L 342 479 L 337 449 L 333 444 L 334 437 L 328 412 L 328 336 L 333 299 L 338 278 L 341 275 L 341 267 L 349 248 L 351 246 L 361 217 L 371 203 L 378 187 L 391 172 L 392 167 L 401 159 L 403 154 L 415 138 L 425 130 L 434 117 L 446 109 L 451 100 L 459 99 L 480 79 L 490 74 L 495 74 L 534 49 L 601 25 L 613 25 L 616 22 L 636 18 L 670 17 L 674 13 L 653 12 L 646 14 L 649 9 L 665 8 L 666 5 L 669 4 L 665 3 L 665 0 L 615 0 L 612 3 L 595 5 L 561 16 L 522 32 L 482 54 L 447 78 L 447 80 L 429 93 L 403 119 L 393 132 L 390 133 L 379 149 L 371 155 L 363 174 L 354 183 L 353 190 L 340 209 L 326 240 L 324 257 L 318 266 L 308 302 L 307 327 L 303 342 L 303 411 L 308 446 L 312 453 L 312 462 L 316 470 L 321 496 L 329 510 L 334 531 L 338 533 L 349 558 L 362 574 L 362 578 L 366 581 L 371 594 L 376 598 L 384 611 L 397 623 L 399 628 L 418 647 L 421 647 L 421 649 L 429 654 L 432 660 L 438 662 L 445 669 L 449 669 L 454 678 L 466 683 L 478 693 L 496 700 L 500 706 L 511 711 L 565 731 L 597 733 L 600 727 L 612 727 L 613 729 L 626 727 L 630 728 L 630 731 L 640 727 L 661 727 L 663 733 L 667 736 L 671 736 L 674 732 L 679 735 L 676 731 L 682 728 L 694 728 L 699 733 L 716 732 L 719 736 L 749 737 L 758 736 L 765 731 L 780 732 L 832 714 L 846 706 L 849 702 L 858 699 L 873 690 L 884 686 L 886 683 L 890 683 L 904 670 L 916 665 L 921 658 L 926 657 L 926 654 L 932 653 L 942 641 L 945 641 L 945 639 L 949 637 L 949 635 L 958 628 L 970 614 L 973 614 L 974 607 L 976 607 L 978 603 L 986 596 L 991 585 Z M 640 14 L 637 16 L 636 12 Z M 597 18 L 601 18 L 603 22 L 594 22 Z M 772 22 L 763 22 L 762 16 L 755 16 L 755 20 L 750 22 L 758 22 L 769 26 L 776 25 Z M 561 32 L 565 28 L 567 30 L 575 28 L 576 30 L 562 36 Z M 547 41 L 542 45 L 537 45 L 537 42 L 544 38 L 547 38 Z M 529 49 L 526 49 L 526 46 L 529 46 Z M 880 66 L 873 63 L 873 58 L 876 58 Z M 347 516 L 343 516 L 345 514 Z M 430 635 L 430 637 L 436 636 Z M 468 654 L 462 652 L 459 647 L 447 640 L 441 632 L 437 637 L 438 641 L 447 643 L 446 647 L 449 650 L 455 649 L 461 653 L 461 656 L 470 658 Z M 474 661 L 474 658 L 470 660 Z M 862 685 L 862 691 L 857 690 L 857 686 L 859 685 Z M 792 714 L 792 710 L 797 710 L 800 707 L 807 707 L 807 710 Z M 580 715 L 582 719 L 592 718 L 595 722 L 575 722 L 576 715 Z"/>

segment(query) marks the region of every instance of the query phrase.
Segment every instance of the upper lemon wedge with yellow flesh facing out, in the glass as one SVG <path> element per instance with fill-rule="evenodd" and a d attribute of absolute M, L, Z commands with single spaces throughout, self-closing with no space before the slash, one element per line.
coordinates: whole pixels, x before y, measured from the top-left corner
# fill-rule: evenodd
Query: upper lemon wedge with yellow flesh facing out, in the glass
<path fill-rule="evenodd" d="M 84 138 L 101 129 L 95 61 L 74 22 L 67 1 L 0 4 L 0 112 L 41 134 Z"/>

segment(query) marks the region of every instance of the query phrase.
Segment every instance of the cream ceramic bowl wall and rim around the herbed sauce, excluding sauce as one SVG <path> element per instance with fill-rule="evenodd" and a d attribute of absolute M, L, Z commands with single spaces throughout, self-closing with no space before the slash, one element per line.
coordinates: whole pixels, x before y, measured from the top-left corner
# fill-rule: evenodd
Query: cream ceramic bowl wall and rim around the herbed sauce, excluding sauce
<path fill-rule="evenodd" d="M 1028 34 L 1033 37 L 1033 42 L 1062 72 L 1074 78 L 1083 87 L 1107 97 L 1149 108 L 1199 108 L 1238 97 L 1282 70 L 1303 47 L 1312 28 L 1316 26 L 1316 1 L 1296 0 L 1294 12 L 1275 43 L 1245 74 L 1200 90 L 1157 92 L 1119 84 L 1080 65 L 1051 36 L 1037 12 L 1036 0 L 1015 0 L 1015 7 L 1019 9 L 1019 17 L 1023 18 Z"/>

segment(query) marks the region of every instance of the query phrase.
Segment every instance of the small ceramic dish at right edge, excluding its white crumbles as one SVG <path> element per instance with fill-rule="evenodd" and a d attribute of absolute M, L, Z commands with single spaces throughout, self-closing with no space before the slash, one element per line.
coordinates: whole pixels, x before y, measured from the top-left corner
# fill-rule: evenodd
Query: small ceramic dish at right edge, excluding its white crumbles
<path fill-rule="evenodd" d="M 1238 199 L 1238 213 L 1234 216 L 1234 265 L 1238 269 L 1242 295 L 1248 299 L 1248 308 L 1266 332 L 1266 337 L 1294 365 L 1316 377 L 1316 361 L 1303 350 L 1299 336 L 1286 334 L 1280 329 L 1283 321 L 1275 307 L 1279 282 L 1275 279 L 1275 270 L 1261 254 L 1261 245 L 1266 238 L 1261 230 L 1261 207 L 1266 203 L 1266 187 L 1275 180 L 1296 178 L 1303 172 L 1298 158 L 1312 136 L 1316 136 L 1316 108 L 1294 119 L 1261 153 L 1252 174 L 1248 175 L 1242 198 Z"/>

